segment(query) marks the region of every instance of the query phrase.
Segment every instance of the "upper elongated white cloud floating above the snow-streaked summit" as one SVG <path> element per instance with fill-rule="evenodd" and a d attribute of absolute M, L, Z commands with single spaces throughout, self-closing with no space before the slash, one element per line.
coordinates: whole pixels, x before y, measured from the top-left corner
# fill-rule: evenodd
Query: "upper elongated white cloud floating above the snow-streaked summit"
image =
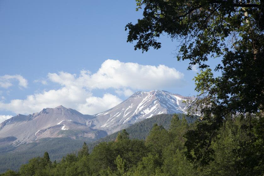
<path fill-rule="evenodd" d="M 71 85 L 75 82 L 90 90 L 107 88 L 153 90 L 184 85 L 184 74 L 175 68 L 165 65 L 124 63 L 110 59 L 102 63 L 101 68 L 94 74 L 83 70 L 77 78 L 76 74 L 65 72 L 49 73 L 48 77 L 61 85 Z"/>

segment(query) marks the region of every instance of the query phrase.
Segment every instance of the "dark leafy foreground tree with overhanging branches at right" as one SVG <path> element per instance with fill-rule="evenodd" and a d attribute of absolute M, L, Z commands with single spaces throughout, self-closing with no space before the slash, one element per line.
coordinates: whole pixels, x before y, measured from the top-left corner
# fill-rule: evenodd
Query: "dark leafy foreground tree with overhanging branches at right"
<path fill-rule="evenodd" d="M 157 40 L 165 33 L 179 41 L 177 59 L 189 60 L 188 69 L 198 65 L 201 70 L 189 115 L 201 114 L 202 120 L 186 134 L 185 145 L 189 159 L 208 164 L 217 130 L 228 115 L 242 114 L 243 121 L 251 122 L 249 131 L 264 118 L 264 1 L 137 0 L 137 5 L 137 10 L 144 7 L 143 18 L 126 25 L 127 41 L 136 41 L 135 49 L 144 52 L 160 48 Z M 209 68 L 211 58 L 222 60 L 214 69 L 221 76 Z M 263 158 L 255 166 L 259 164 L 263 166 Z"/>

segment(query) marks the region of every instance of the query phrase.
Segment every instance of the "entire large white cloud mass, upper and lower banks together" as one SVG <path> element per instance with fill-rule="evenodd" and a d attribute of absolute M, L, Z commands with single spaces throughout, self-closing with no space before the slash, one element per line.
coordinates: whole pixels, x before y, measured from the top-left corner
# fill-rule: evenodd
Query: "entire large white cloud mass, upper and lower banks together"
<path fill-rule="evenodd" d="M 96 114 L 122 102 L 118 97 L 120 95 L 130 96 L 135 90 L 166 89 L 185 84 L 184 74 L 175 68 L 124 63 L 118 60 L 106 60 L 94 74 L 82 70 L 80 74 L 59 72 L 49 73 L 47 77 L 51 83 L 57 83 L 61 87 L 28 95 L 25 99 L 0 101 L 0 110 L 29 114 L 46 107 L 63 105 L 84 114 Z M 27 84 L 27 81 L 24 83 Z M 107 91 L 109 88 L 117 95 L 105 93 L 98 97 L 92 94 L 95 89 Z"/>

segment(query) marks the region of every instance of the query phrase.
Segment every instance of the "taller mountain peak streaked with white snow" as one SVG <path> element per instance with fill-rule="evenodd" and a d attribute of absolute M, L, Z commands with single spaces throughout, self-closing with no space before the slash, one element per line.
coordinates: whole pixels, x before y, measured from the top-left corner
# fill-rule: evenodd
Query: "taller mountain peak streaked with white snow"
<path fill-rule="evenodd" d="M 186 105 L 183 101 L 189 98 L 194 97 L 184 97 L 159 90 L 136 92 L 119 105 L 94 115 L 96 118 L 87 122 L 87 125 L 112 134 L 154 115 L 186 113 Z"/>

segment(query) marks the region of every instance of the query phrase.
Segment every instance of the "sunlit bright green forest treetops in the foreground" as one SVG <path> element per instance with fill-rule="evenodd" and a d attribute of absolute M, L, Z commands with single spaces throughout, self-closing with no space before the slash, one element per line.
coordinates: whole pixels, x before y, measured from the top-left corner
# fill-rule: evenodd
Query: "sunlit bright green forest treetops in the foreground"
<path fill-rule="evenodd" d="M 19 172 L 8 170 L 2 176 L 85 176 L 85 175 L 261 175 L 263 167 L 244 168 L 239 143 L 248 141 L 247 131 L 241 126 L 241 117 L 227 117 L 225 125 L 217 131 L 212 148 L 212 160 L 207 165 L 191 162 L 185 156 L 186 132 L 197 128 L 197 121 L 189 124 L 175 114 L 167 129 L 154 124 L 146 140 L 129 139 L 126 130 L 118 133 L 114 141 L 100 142 L 89 153 L 86 143 L 78 153 L 70 153 L 61 161 L 51 161 L 48 152 L 35 157 L 20 167 Z M 195 152 L 195 151 L 192 151 Z M 263 156 L 262 156 L 263 157 Z M 252 162 L 252 161 L 251 161 Z"/>

